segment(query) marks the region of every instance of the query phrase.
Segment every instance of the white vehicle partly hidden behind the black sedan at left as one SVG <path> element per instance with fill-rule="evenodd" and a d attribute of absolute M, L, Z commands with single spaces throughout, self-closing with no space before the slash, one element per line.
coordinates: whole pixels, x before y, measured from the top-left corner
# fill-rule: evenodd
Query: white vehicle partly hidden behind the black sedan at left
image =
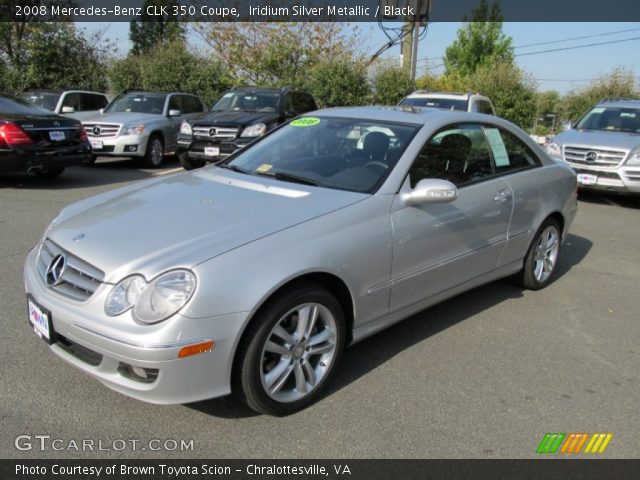
<path fill-rule="evenodd" d="M 104 93 L 86 90 L 27 90 L 20 98 L 76 120 L 97 115 L 109 103 Z"/>

